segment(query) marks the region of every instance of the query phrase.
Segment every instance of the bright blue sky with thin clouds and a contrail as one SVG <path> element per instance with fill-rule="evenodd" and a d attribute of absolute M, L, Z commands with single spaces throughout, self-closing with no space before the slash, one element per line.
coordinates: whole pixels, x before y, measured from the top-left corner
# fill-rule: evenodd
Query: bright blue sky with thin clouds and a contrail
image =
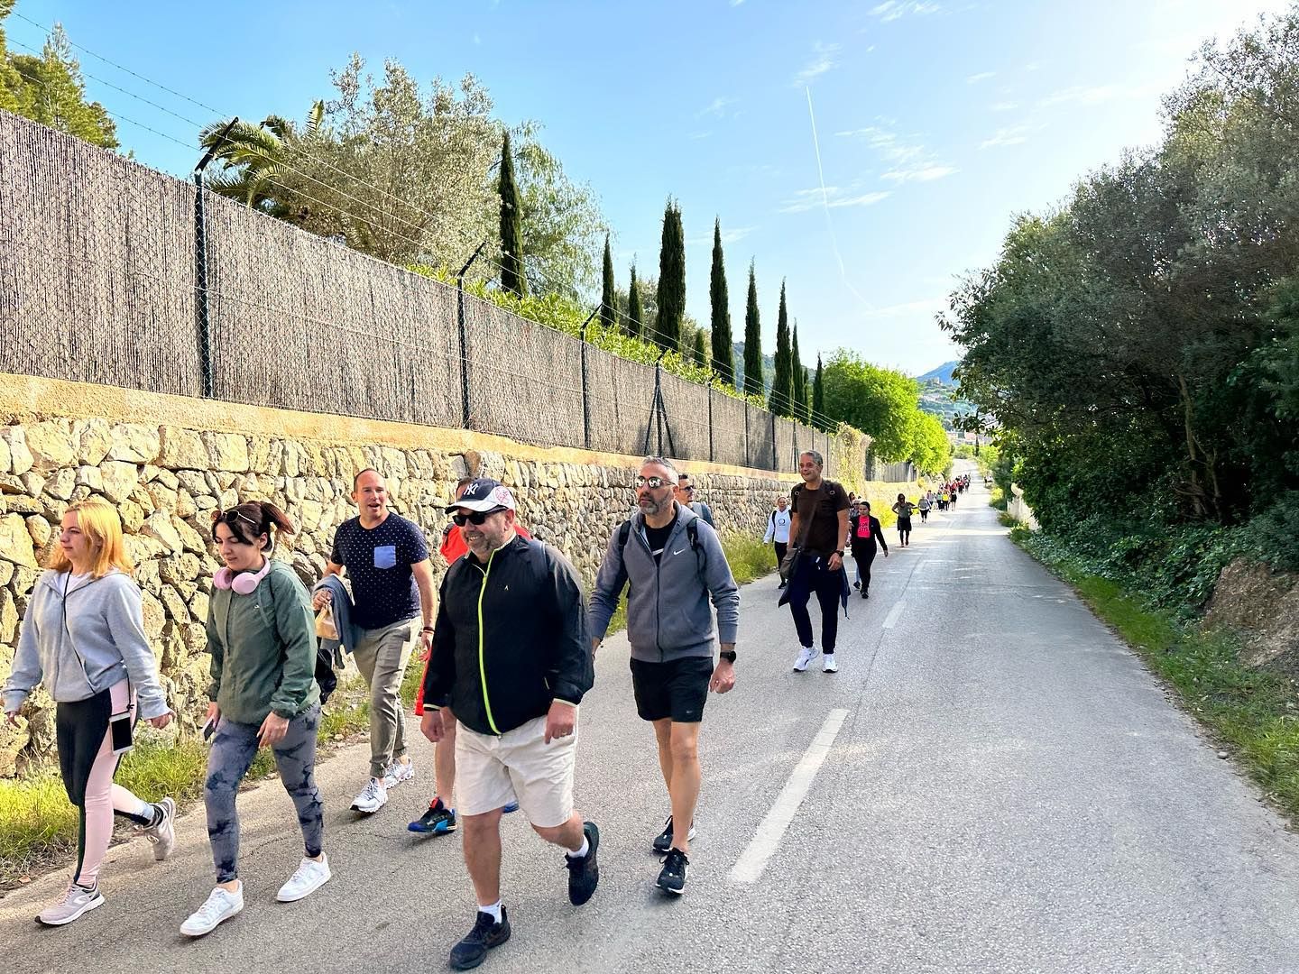
<path fill-rule="evenodd" d="M 956 356 L 934 313 L 991 262 L 1016 213 L 1160 132 L 1160 99 L 1199 43 L 1286 0 L 522 0 L 356 4 L 19 0 L 71 40 L 223 114 L 303 117 L 359 51 L 421 79 L 473 71 L 498 114 L 590 182 L 620 282 L 657 270 L 664 200 L 681 203 L 687 308 L 708 321 L 713 217 L 743 331 L 757 269 L 764 348 L 781 279 L 804 362 L 850 347 L 925 371 Z M 12 42 L 42 32 L 13 17 Z M 21 49 L 16 45 L 16 49 Z M 210 114 L 81 55 L 88 74 L 199 122 Z M 96 81 L 110 112 L 187 143 L 195 130 Z M 816 135 L 813 140 L 812 114 Z M 122 122 L 123 148 L 186 174 L 173 142 Z M 820 147 L 820 171 L 817 160 Z M 824 174 L 824 191 L 822 178 Z"/>

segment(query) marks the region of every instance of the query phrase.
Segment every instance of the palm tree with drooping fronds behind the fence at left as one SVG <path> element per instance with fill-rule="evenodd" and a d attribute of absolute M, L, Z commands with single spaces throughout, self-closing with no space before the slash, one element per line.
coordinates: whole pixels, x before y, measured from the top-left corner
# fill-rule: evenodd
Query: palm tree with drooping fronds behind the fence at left
<path fill-rule="evenodd" d="M 286 183 L 292 173 L 294 153 L 317 136 L 323 117 L 325 103 L 316 101 L 301 130 L 282 116 L 266 116 L 256 126 L 235 122 L 213 153 L 222 169 L 208 177 L 208 188 L 273 217 L 304 222 L 299 214 L 303 205 L 295 203 L 294 192 Z M 226 125 L 225 121 L 209 125 L 199 135 L 199 144 L 205 149 L 216 145 Z"/>

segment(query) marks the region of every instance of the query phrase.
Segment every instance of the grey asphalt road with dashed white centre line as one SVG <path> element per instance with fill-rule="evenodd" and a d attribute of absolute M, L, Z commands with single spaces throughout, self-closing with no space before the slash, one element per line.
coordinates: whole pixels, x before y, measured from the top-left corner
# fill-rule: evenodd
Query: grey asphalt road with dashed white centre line
<path fill-rule="evenodd" d="M 791 671 L 774 577 L 743 590 L 739 682 L 705 712 L 681 900 L 653 888 L 666 797 L 626 643 L 609 640 L 577 787 L 603 834 L 600 888 L 570 906 L 560 853 L 507 818 L 514 932 L 483 970 L 1299 971 L 1299 838 L 985 501 L 977 486 L 876 560 L 838 674 Z M 242 797 L 242 916 L 199 942 L 177 931 L 210 888 L 196 809 L 166 864 L 114 848 L 108 903 L 69 927 L 32 922 L 62 875 L 0 900 L 0 965 L 443 969 L 473 922 L 461 839 L 405 831 L 431 783 L 423 747 L 413 784 L 372 818 L 349 813 L 366 753 L 320 769 L 334 880 L 308 900 L 274 903 L 300 839 L 270 782 Z"/>

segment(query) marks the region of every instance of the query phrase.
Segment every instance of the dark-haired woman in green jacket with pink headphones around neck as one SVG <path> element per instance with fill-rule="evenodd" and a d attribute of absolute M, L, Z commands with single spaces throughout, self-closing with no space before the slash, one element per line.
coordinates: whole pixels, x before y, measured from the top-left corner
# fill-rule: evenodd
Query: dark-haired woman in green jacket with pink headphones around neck
<path fill-rule="evenodd" d="M 235 796 L 260 747 L 275 755 L 305 845 L 301 864 L 275 899 L 301 900 L 330 878 L 314 775 L 321 706 L 310 597 L 294 570 L 270 557 L 274 535 L 292 532 L 294 526 L 266 501 L 217 510 L 212 522 L 226 564 L 212 578 L 208 605 L 212 703 L 203 731 L 216 735 L 203 797 L 217 886 L 181 926 L 187 936 L 203 936 L 243 909 Z"/>

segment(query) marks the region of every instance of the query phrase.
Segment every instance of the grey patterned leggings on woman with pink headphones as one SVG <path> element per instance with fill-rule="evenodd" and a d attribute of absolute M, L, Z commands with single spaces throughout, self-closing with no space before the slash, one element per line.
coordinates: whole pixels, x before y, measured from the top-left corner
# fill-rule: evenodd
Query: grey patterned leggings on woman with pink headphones
<path fill-rule="evenodd" d="M 297 825 L 303 829 L 303 842 L 308 856 L 320 856 L 325 838 L 325 805 L 316 787 L 316 727 L 320 725 L 320 704 L 303 710 L 288 722 L 284 739 L 274 747 L 275 768 L 284 791 L 297 808 Z M 212 861 L 217 866 L 217 882 L 229 883 L 239 877 L 239 813 L 235 796 L 239 782 L 248 774 L 257 753 L 256 723 L 236 723 L 221 718 L 217 735 L 208 755 L 208 780 L 203 786 L 203 800 L 208 806 L 208 842 Z"/>

